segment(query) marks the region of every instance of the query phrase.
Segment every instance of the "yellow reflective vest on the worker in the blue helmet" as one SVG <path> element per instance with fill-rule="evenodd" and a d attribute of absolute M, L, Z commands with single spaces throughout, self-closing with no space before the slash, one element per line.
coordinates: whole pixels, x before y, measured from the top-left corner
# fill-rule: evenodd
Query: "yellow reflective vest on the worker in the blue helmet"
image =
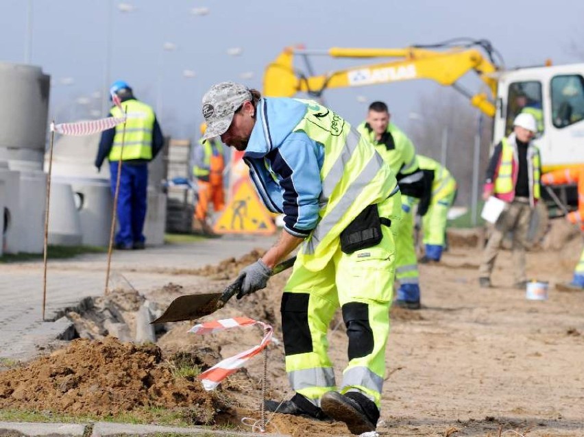
<path fill-rule="evenodd" d="M 152 129 L 154 128 L 154 110 L 146 103 L 130 99 L 121 103 L 127 113 L 125 138 L 123 125 L 117 125 L 110 155 L 110 161 L 119 161 L 123 140 L 122 161 L 152 159 Z M 114 117 L 123 116 L 124 112 L 114 106 L 110 113 Z"/>

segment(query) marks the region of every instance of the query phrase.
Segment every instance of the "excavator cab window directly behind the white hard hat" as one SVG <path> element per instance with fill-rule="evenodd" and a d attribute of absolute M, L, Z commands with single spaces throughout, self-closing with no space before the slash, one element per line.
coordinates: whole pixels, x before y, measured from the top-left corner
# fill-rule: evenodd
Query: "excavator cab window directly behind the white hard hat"
<path fill-rule="evenodd" d="M 542 83 L 537 81 L 513 82 L 509 85 L 507 96 L 507 118 L 505 135 L 513 131 L 513 120 L 521 112 L 528 112 L 535 117 L 537 133 L 544 132 L 544 112 L 542 106 Z"/>

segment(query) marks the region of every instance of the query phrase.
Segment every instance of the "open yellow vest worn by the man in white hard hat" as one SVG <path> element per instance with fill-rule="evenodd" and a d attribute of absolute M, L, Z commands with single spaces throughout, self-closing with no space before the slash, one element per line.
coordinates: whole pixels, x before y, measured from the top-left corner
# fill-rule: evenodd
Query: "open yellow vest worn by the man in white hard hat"
<path fill-rule="evenodd" d="M 515 184 L 517 184 L 517 174 L 519 164 L 515 159 L 515 145 L 509 144 L 508 138 L 501 140 L 502 150 L 497 177 L 495 179 L 494 193 L 504 201 L 512 201 L 515 197 Z M 539 151 L 533 144 L 527 148 L 527 165 L 529 178 L 529 191 L 531 193 L 532 204 L 535 204 L 540 197 L 539 179 Z"/>

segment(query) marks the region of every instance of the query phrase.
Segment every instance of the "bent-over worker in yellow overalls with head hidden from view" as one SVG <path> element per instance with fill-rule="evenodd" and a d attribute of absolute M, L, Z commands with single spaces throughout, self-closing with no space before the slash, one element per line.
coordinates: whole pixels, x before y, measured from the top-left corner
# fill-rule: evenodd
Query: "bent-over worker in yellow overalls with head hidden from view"
<path fill-rule="evenodd" d="M 450 210 L 457 195 L 457 182 L 448 168 L 441 166 L 432 158 L 417 155 L 417 163 L 424 173 L 430 174 L 432 180 L 432 193 L 428 210 L 422 218 L 425 254 L 419 261 L 422 263 L 439 262 L 446 245 L 448 210 Z"/>

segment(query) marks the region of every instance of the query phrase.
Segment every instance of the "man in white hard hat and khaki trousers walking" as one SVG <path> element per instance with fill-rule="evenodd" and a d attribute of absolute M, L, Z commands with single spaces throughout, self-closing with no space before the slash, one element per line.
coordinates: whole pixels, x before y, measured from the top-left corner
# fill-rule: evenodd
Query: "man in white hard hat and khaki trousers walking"
<path fill-rule="evenodd" d="M 513 232 L 513 268 L 515 288 L 525 288 L 525 249 L 529 245 L 528 229 L 531 214 L 540 197 L 542 166 L 539 149 L 531 141 L 537 133 L 537 121 L 531 114 L 522 112 L 513 121 L 513 132 L 495 147 L 483 199 L 494 196 L 507 205 L 498 217 L 489 238 L 483 262 L 479 268 L 479 283 L 491 286 L 491 271 L 505 235 Z"/>

